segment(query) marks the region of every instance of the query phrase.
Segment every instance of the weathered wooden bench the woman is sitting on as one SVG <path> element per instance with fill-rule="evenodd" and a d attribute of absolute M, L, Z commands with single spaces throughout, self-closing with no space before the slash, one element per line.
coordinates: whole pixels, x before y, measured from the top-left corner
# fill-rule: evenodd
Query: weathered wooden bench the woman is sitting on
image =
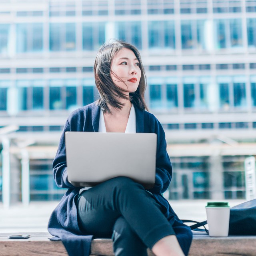
<path fill-rule="evenodd" d="M 66 256 L 61 241 L 50 241 L 48 232 L 31 233 L 28 239 L 10 240 L 13 233 L 0 233 L 0 256 Z M 19 233 L 22 234 L 22 233 Z M 25 233 L 23 233 L 25 234 Z M 189 256 L 255 256 L 256 236 L 211 238 L 194 232 Z M 94 239 L 90 256 L 114 256 L 110 239 Z M 148 250 L 148 256 L 154 254 Z"/>

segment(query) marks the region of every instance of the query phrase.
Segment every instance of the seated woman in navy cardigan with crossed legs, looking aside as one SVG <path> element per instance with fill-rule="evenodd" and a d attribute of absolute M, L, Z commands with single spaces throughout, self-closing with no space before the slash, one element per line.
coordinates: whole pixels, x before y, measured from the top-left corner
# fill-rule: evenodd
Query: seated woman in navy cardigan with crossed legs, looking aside
<path fill-rule="evenodd" d="M 70 114 L 53 161 L 56 184 L 68 191 L 52 213 L 49 232 L 62 240 L 69 255 L 87 256 L 92 236 L 112 237 L 116 256 L 146 256 L 147 247 L 156 256 L 188 255 L 192 232 L 161 195 L 170 184 L 172 166 L 164 130 L 146 111 L 146 76 L 138 50 L 118 40 L 103 45 L 94 74 L 100 98 Z M 156 133 L 154 188 L 145 190 L 126 177 L 75 188 L 66 172 L 66 131 Z"/>

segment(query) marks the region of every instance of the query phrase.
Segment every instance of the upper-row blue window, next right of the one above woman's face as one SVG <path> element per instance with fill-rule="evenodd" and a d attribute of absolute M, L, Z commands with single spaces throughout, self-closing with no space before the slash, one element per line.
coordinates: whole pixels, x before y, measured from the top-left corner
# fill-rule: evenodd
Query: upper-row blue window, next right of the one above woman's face
<path fill-rule="evenodd" d="M 175 49 L 174 21 L 148 22 L 148 46 Z"/>

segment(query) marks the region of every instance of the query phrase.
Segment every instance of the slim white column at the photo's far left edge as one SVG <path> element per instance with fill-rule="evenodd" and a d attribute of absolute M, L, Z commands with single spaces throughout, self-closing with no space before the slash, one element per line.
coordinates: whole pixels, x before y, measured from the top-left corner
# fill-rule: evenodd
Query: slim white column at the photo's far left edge
<path fill-rule="evenodd" d="M 10 207 L 10 140 L 2 138 L 2 195 L 4 208 Z"/>

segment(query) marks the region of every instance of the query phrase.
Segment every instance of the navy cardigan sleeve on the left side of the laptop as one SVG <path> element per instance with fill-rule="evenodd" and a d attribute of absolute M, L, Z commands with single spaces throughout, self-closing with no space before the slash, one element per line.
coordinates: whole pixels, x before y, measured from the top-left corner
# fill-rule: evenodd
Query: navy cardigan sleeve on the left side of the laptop
<path fill-rule="evenodd" d="M 70 123 L 68 120 L 64 125 L 64 129 L 60 136 L 60 143 L 56 156 L 52 163 L 53 177 L 58 187 L 60 188 L 74 188 L 68 182 L 67 165 L 66 165 L 66 146 L 65 146 L 65 132 L 70 131 Z"/>

